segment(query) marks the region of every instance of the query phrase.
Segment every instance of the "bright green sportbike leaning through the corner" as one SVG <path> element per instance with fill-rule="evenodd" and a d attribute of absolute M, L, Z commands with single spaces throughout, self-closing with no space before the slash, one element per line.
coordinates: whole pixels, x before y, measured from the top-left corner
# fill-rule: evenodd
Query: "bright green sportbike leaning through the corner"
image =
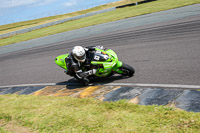
<path fill-rule="evenodd" d="M 128 64 L 125 64 L 121 61 L 118 60 L 117 54 L 111 50 L 102 50 L 95 48 L 96 53 L 93 55 L 91 58 L 92 60 L 90 61 L 91 67 L 96 68 L 97 71 L 94 75 L 89 76 L 90 77 L 98 77 L 98 78 L 103 78 L 103 77 L 109 77 L 112 76 L 113 74 L 121 74 L 125 77 L 131 77 L 134 75 L 135 70 L 133 67 L 131 67 Z M 63 68 L 65 70 L 65 73 L 68 74 L 69 76 L 73 76 L 76 78 L 75 72 L 72 72 L 70 67 L 68 67 L 69 64 L 69 53 L 60 55 L 55 58 L 55 63 Z M 105 58 L 106 55 L 106 58 Z M 82 71 L 87 71 L 90 68 L 86 67 L 81 67 Z M 85 80 L 79 80 L 80 82 L 83 83 L 83 85 L 88 85 L 90 81 L 85 81 Z"/>

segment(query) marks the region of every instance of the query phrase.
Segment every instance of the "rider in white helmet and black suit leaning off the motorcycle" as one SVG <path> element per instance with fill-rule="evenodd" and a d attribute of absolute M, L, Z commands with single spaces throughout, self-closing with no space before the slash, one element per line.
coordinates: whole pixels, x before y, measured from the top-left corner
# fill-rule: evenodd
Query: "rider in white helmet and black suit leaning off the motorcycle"
<path fill-rule="evenodd" d="M 109 56 L 106 53 L 96 50 L 95 48 L 105 50 L 103 46 L 75 46 L 67 58 L 67 74 L 74 76 L 84 85 L 88 85 L 89 76 L 96 74 L 99 66 L 91 65 L 91 61 L 106 61 Z M 70 71 L 71 70 L 71 71 Z"/>

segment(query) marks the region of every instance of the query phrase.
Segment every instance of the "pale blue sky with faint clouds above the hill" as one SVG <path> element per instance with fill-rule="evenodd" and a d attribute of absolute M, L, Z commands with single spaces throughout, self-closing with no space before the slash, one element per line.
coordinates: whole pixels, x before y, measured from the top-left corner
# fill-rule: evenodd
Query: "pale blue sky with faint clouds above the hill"
<path fill-rule="evenodd" d="M 119 0 L 0 0 L 0 25 L 70 13 Z"/>

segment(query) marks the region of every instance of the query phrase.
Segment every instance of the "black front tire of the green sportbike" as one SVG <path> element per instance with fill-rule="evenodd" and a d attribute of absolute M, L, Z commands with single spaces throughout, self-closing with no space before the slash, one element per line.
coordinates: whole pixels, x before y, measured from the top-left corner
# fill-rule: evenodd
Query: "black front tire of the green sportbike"
<path fill-rule="evenodd" d="M 132 77 L 135 73 L 135 69 L 132 66 L 125 63 L 122 64 L 120 69 L 123 71 L 123 74 L 122 74 L 123 76 Z"/>

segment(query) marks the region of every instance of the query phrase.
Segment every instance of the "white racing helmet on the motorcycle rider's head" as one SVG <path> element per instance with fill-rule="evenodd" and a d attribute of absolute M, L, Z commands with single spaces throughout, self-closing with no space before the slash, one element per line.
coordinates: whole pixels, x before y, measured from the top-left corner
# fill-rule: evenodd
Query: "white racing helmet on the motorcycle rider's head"
<path fill-rule="evenodd" d="M 72 55 L 79 62 L 84 62 L 86 59 L 85 49 L 82 46 L 75 46 Z"/>

